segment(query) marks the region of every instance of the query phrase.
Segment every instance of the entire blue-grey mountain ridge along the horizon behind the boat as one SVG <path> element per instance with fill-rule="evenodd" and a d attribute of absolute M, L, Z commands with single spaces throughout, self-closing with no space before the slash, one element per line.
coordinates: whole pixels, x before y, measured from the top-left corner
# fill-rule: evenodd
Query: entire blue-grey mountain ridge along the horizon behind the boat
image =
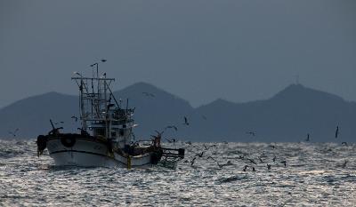
<path fill-rule="evenodd" d="M 122 107 L 128 99 L 129 106 L 136 108 L 139 127 L 135 135 L 142 139 L 171 124 L 178 131 L 167 130 L 166 138 L 195 141 L 301 141 L 307 133 L 316 142 L 350 142 L 356 137 L 356 103 L 302 84 L 291 84 L 268 100 L 234 103 L 218 99 L 196 108 L 146 83 L 114 94 Z M 79 122 L 72 115 L 78 116 L 77 96 L 48 92 L 19 100 L 0 109 L 0 137 L 10 139 L 9 131 L 19 128 L 16 138 L 35 138 L 51 130 L 49 119 L 65 131 L 76 131 Z M 182 124 L 183 116 L 188 117 L 189 126 Z M 337 125 L 340 136 L 336 139 Z M 248 131 L 255 131 L 255 136 Z"/>

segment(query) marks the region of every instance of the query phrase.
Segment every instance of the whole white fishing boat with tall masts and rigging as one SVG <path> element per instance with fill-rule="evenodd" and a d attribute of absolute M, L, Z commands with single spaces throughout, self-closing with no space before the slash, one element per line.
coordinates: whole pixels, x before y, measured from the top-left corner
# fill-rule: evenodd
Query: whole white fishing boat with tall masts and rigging
<path fill-rule="evenodd" d="M 37 154 L 47 149 L 58 166 L 83 167 L 150 167 L 164 161 L 174 163 L 184 157 L 183 148 L 161 147 L 162 133 L 146 141 L 134 136 L 134 108 L 121 106 L 111 92 L 115 79 L 96 75 L 85 77 L 75 72 L 72 80 L 79 89 L 81 128 L 77 132 L 63 133 L 52 124 L 52 130 L 39 135 Z M 149 141 L 149 142 L 148 142 Z"/>

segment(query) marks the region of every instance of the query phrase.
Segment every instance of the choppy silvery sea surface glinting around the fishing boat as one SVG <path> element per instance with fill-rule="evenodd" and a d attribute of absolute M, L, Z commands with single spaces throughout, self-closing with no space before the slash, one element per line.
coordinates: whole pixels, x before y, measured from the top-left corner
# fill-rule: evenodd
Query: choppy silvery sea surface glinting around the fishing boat
<path fill-rule="evenodd" d="M 174 145 L 186 147 L 186 158 L 176 170 L 154 167 L 128 171 L 56 167 L 48 155 L 37 158 L 33 140 L 0 141 L 0 206 L 354 206 L 356 203 L 355 145 Z M 271 165 L 270 170 L 267 164 Z"/>

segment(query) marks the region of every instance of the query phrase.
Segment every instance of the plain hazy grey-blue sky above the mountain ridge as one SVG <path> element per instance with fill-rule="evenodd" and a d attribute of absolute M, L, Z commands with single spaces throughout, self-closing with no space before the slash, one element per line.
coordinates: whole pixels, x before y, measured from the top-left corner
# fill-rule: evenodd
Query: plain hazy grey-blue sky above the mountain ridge
<path fill-rule="evenodd" d="M 270 98 L 296 76 L 356 100 L 356 1 L 0 0 L 0 107 L 77 94 L 90 64 L 114 90 L 155 84 L 197 107 Z"/>

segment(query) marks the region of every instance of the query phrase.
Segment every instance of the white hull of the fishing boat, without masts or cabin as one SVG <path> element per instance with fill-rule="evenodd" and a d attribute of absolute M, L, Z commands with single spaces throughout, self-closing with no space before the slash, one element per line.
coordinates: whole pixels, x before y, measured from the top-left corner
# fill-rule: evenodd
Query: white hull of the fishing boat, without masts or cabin
<path fill-rule="evenodd" d="M 59 138 L 49 139 L 47 149 L 57 166 L 131 168 L 152 165 L 151 153 L 127 157 L 116 152 L 109 153 L 104 143 L 88 139 L 76 139 L 73 147 L 64 147 Z"/>

